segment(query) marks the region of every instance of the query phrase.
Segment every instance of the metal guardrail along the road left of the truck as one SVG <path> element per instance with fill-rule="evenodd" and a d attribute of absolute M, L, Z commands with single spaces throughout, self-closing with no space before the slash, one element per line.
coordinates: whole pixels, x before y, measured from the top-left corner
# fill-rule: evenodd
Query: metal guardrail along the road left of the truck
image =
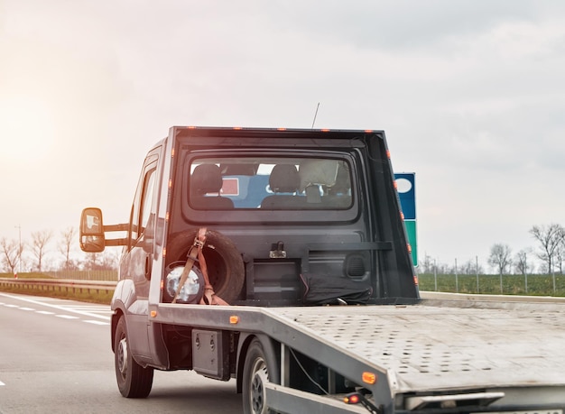
<path fill-rule="evenodd" d="M 74 281 L 70 279 L 7 279 L 0 278 L 0 286 L 23 290 L 61 291 L 66 293 L 111 293 L 116 281 Z"/>

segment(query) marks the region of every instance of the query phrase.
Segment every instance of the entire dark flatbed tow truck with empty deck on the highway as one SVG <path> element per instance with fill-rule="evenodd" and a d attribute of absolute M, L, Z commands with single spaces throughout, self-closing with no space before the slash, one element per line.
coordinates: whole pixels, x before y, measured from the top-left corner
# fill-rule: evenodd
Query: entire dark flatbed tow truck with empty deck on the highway
<path fill-rule="evenodd" d="M 422 299 L 382 131 L 172 127 L 129 216 L 80 226 L 124 246 L 127 398 L 194 370 L 236 378 L 246 414 L 563 414 L 565 304 Z"/>

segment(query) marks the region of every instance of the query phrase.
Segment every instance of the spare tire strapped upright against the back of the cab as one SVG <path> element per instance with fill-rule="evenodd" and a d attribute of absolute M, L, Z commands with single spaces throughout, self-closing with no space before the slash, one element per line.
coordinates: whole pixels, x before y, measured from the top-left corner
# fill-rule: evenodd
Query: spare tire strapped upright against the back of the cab
<path fill-rule="evenodd" d="M 167 245 L 166 265 L 172 262 L 186 262 L 190 246 L 198 229 L 173 235 Z M 206 244 L 202 249 L 208 267 L 208 279 L 218 298 L 233 303 L 244 285 L 245 267 L 241 253 L 227 236 L 215 230 L 206 232 Z M 194 266 L 199 267 L 198 262 Z"/>

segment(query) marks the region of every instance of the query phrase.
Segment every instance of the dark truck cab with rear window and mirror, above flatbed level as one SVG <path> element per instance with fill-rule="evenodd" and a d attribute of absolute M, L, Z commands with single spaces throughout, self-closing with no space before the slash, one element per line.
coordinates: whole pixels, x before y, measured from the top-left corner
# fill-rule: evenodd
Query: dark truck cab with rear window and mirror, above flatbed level
<path fill-rule="evenodd" d="M 85 219 L 83 247 L 88 224 L 101 221 L 86 211 L 97 218 Z M 120 280 L 148 303 L 173 299 L 167 278 L 201 227 L 210 282 L 232 305 L 314 303 L 309 281 L 320 280 L 370 290 L 364 303 L 418 298 L 379 131 L 171 128 L 147 154 L 118 227 L 125 238 L 98 232 L 87 250 L 123 244 Z"/>

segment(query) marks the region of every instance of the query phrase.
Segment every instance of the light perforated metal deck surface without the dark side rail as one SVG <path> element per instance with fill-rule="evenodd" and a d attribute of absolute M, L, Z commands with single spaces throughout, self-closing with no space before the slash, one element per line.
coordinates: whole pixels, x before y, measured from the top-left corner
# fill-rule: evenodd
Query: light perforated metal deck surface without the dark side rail
<path fill-rule="evenodd" d="M 565 306 L 272 308 L 387 371 L 394 392 L 565 385 Z"/>

